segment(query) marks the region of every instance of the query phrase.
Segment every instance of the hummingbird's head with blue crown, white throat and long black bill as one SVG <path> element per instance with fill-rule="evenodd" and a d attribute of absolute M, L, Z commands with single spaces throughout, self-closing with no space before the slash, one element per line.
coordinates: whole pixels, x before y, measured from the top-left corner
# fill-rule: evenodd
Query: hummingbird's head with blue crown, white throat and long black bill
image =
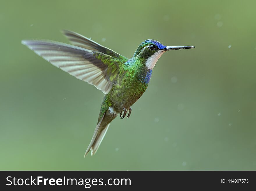
<path fill-rule="evenodd" d="M 134 53 L 133 57 L 140 59 L 145 63 L 149 70 L 152 70 L 157 63 L 157 60 L 167 50 L 179 50 L 195 48 L 194 46 L 164 46 L 155 40 L 143 41 Z"/>

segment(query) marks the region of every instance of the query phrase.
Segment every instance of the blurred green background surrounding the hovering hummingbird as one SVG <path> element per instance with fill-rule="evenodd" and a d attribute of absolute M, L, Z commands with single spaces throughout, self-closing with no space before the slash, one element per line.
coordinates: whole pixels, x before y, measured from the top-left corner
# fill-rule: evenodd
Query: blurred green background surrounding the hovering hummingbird
<path fill-rule="evenodd" d="M 255 1 L 2 1 L 0 170 L 256 170 Z M 130 58 L 145 39 L 195 49 L 157 62 L 129 119 L 83 158 L 103 93 L 22 39 L 73 30 Z"/>

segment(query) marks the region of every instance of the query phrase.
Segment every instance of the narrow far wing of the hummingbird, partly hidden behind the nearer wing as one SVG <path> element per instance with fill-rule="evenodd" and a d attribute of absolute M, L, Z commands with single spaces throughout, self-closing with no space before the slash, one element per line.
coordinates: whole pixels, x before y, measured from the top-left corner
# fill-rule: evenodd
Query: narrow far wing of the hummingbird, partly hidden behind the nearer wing
<path fill-rule="evenodd" d="M 118 54 L 117 52 L 105 46 L 102 46 L 99 43 L 94 42 L 93 40 L 88 39 L 87 37 L 84 37 L 81 34 L 69 30 L 62 30 L 62 32 L 67 37 L 67 39 L 69 39 L 70 42 L 75 46 L 79 46 L 89 50 L 96 50 L 104 54 L 108 54 L 109 56 L 120 60 L 122 63 L 125 63 L 128 60 L 126 57 Z"/>

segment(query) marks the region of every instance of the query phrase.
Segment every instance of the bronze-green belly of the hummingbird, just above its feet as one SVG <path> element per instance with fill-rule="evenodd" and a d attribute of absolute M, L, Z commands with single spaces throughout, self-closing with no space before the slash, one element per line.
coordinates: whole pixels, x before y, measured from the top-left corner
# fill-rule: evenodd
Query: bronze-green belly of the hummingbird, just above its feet
<path fill-rule="evenodd" d="M 116 112 L 122 112 L 133 105 L 147 89 L 147 83 L 137 80 L 126 80 L 125 83 L 115 84 L 110 92 L 112 107 Z"/>

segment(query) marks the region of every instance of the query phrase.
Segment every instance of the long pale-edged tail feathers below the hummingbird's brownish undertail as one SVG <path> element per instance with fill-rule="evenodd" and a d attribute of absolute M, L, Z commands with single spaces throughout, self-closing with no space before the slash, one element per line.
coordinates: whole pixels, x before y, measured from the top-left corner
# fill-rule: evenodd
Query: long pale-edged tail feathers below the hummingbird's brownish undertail
<path fill-rule="evenodd" d="M 97 124 L 95 131 L 93 133 L 93 138 L 88 146 L 88 148 L 86 149 L 86 152 L 84 154 L 84 157 L 86 157 L 86 155 L 88 154 L 88 152 L 90 152 L 91 150 L 91 155 L 93 156 L 98 148 L 100 143 L 102 142 L 108 128 L 109 128 L 109 124 L 106 126 L 102 126 L 102 120 L 104 119 L 105 113 L 103 114 L 101 120 L 99 121 L 99 123 Z"/>

